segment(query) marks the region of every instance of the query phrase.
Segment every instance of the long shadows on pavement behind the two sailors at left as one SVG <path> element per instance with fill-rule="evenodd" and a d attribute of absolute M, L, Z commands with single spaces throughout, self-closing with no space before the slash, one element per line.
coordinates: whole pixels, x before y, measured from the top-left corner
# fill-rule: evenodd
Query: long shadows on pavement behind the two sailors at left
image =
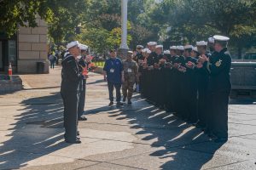
<path fill-rule="evenodd" d="M 33 164 L 33 160 L 67 147 L 63 141 L 62 100 L 59 93 L 25 99 L 22 113 L 9 124 L 0 144 L 0 169 Z M 47 161 L 47 160 L 43 160 Z"/>

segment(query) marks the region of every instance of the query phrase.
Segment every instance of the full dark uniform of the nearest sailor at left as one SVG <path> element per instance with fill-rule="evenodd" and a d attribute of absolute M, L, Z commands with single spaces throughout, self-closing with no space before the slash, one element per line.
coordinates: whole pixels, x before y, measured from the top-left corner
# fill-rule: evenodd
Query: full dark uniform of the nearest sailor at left
<path fill-rule="evenodd" d="M 79 83 L 82 74 L 76 59 L 71 54 L 63 59 L 61 71 L 61 97 L 64 105 L 64 138 L 68 143 L 77 141 Z"/>

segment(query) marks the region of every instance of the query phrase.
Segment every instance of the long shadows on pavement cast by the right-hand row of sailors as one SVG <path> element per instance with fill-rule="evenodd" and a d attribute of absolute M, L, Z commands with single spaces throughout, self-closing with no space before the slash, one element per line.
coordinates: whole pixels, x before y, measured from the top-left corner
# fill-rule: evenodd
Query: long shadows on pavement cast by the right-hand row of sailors
<path fill-rule="evenodd" d="M 137 136 L 145 143 L 155 148 L 164 147 L 149 154 L 165 162 L 160 169 L 201 169 L 224 144 L 212 142 L 201 129 L 146 104 L 139 96 L 133 99 L 132 106 L 125 105 L 120 111 L 110 116 L 116 120 L 128 120 L 131 128 L 138 130 Z"/>

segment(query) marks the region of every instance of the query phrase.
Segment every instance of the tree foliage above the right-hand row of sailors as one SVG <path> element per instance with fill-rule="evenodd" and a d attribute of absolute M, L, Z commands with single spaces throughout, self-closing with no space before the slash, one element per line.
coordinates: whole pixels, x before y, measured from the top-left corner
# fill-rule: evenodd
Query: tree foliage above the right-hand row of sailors
<path fill-rule="evenodd" d="M 164 0 L 150 18 L 158 25 L 171 26 L 169 36 L 183 37 L 185 42 L 222 34 L 239 49 L 255 41 L 255 0 Z"/>

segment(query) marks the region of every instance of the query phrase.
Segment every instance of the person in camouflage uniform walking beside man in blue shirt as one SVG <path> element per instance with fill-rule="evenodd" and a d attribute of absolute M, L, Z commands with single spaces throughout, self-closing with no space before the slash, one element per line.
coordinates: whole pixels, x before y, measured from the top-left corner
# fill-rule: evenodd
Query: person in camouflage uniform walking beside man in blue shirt
<path fill-rule="evenodd" d="M 138 67 L 136 61 L 132 60 L 132 51 L 129 51 L 127 58 L 123 61 L 124 65 L 124 77 L 122 91 L 123 91 L 123 101 L 128 99 L 128 105 L 131 105 L 131 97 L 133 93 L 133 86 L 135 82 L 138 82 Z"/>

